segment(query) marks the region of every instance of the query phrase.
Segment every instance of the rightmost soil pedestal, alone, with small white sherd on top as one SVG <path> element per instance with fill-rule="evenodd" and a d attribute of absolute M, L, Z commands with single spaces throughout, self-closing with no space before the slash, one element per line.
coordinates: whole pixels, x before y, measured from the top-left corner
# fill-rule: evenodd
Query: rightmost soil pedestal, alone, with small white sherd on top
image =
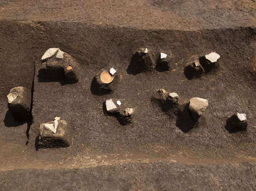
<path fill-rule="evenodd" d="M 246 130 L 246 128 L 247 128 L 247 118 L 245 113 L 235 113 L 233 116 L 228 118 L 226 122 L 226 129 L 230 133 Z"/>

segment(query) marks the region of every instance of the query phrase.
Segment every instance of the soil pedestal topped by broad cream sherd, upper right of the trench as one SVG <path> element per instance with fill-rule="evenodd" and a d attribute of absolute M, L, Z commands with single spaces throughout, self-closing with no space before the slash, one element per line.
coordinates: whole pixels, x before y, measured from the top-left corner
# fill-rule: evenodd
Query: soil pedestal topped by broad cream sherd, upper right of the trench
<path fill-rule="evenodd" d="M 202 56 L 199 58 L 199 62 L 201 66 L 204 68 L 205 73 L 208 73 L 214 68 L 218 68 L 220 55 L 218 55 L 216 52 L 211 52 L 208 55 Z"/>

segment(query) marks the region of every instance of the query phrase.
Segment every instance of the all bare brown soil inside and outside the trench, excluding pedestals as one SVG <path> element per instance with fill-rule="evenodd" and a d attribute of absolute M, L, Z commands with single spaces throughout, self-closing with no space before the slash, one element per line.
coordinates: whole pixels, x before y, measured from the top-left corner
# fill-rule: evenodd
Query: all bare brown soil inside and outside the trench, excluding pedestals
<path fill-rule="evenodd" d="M 1 1 L 0 10 L 0 190 L 256 189 L 256 2 Z M 51 47 L 76 60 L 78 83 L 40 80 Z M 140 47 L 155 60 L 172 55 L 171 70 L 127 71 Z M 187 60 L 212 51 L 220 67 L 188 80 Z M 96 72 L 113 66 L 115 91 L 93 94 Z M 32 92 L 32 121 L 8 111 L 16 86 Z M 161 88 L 183 106 L 192 97 L 209 106 L 192 126 L 151 101 Z M 134 108 L 131 124 L 105 115 L 110 98 Z M 247 130 L 226 127 L 236 112 Z M 39 125 L 56 116 L 73 127 L 72 145 L 38 149 Z"/>

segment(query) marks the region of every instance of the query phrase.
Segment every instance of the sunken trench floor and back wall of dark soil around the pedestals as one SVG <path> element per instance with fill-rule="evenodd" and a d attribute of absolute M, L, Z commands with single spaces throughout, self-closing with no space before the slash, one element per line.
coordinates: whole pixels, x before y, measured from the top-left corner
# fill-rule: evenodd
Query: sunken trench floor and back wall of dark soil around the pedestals
<path fill-rule="evenodd" d="M 120 163 L 148 159 L 156 162 L 157 169 L 165 166 L 159 166 L 158 162 L 168 160 L 186 164 L 186 159 L 190 159 L 189 163 L 195 164 L 197 155 L 202 158 L 202 164 L 210 158 L 211 161 L 221 158 L 220 163 L 226 167 L 235 161 L 239 164 L 255 162 L 255 28 L 181 31 L 75 22 L 0 22 L 4 26 L 0 33 L 3 67 L 0 83 L 6 84 L 1 103 L 7 104 L 5 96 L 14 85 L 25 86 L 31 89 L 33 116 L 26 128 L 22 125 L 8 127 L 12 137 L 7 132 L 1 135 L 0 143 L 5 149 L 0 150 L 0 169 L 16 169 L 17 163 L 28 168 L 37 168 L 38 164 L 42 169 L 59 168 L 60 165 L 83 168 L 92 162 L 96 166 L 111 164 L 115 157 Z M 41 82 L 37 78 L 42 67 L 40 59 L 51 47 L 59 47 L 79 63 L 79 82 L 62 84 L 58 80 Z M 148 48 L 155 59 L 160 52 L 172 55 L 170 71 L 153 69 L 129 74 L 127 69 L 132 55 L 140 47 Z M 212 51 L 220 55 L 220 67 L 201 78 L 188 80 L 184 74 L 187 60 Z M 119 75 L 116 91 L 106 95 L 92 94 L 91 84 L 96 72 L 113 66 Z M 11 71 L 11 75 L 7 71 Z M 209 106 L 193 128 L 185 127 L 182 120 L 177 125 L 176 116 L 167 115 L 151 102 L 151 96 L 161 88 L 176 92 L 183 103 L 188 103 L 192 97 L 202 97 L 209 101 Z M 122 104 L 134 108 L 131 124 L 122 125 L 114 116 L 103 113 L 102 103 L 110 98 L 120 99 Z M 2 108 L 3 115 L 6 107 Z M 230 133 L 225 129 L 226 120 L 235 112 L 246 113 L 246 131 Z M 35 151 L 39 125 L 56 116 L 73 127 L 72 145 Z M 2 123 L 1 131 L 6 128 Z M 22 128 L 26 129 L 23 133 Z M 26 140 L 27 147 L 20 144 L 19 139 Z M 190 152 L 192 150 L 194 152 Z M 170 157 L 172 155 L 174 157 Z M 251 164 L 246 165 L 249 168 Z M 102 171 L 104 169 L 98 170 Z"/>

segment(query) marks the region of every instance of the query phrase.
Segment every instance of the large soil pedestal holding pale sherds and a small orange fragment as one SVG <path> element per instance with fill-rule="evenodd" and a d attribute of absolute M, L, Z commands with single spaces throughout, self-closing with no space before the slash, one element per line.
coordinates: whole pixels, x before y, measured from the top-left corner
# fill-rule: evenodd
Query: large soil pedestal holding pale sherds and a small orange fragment
<path fill-rule="evenodd" d="M 56 56 L 55 56 L 56 55 Z M 64 81 L 72 84 L 79 81 L 80 68 L 78 63 L 69 54 L 59 48 L 48 49 L 41 58 L 42 68 L 39 77 L 49 81 Z"/>

